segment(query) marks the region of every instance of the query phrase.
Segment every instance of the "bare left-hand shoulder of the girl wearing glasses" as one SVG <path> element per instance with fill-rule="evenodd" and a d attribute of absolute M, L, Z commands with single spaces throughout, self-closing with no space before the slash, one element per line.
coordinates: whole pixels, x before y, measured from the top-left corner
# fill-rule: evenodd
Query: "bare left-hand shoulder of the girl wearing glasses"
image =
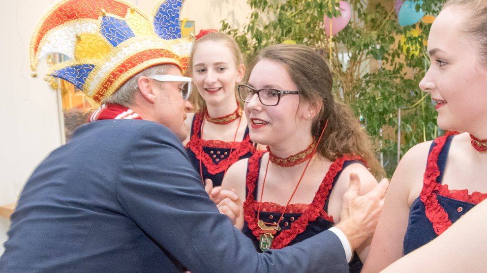
<path fill-rule="evenodd" d="M 245 199 L 245 180 L 247 177 L 248 159 L 241 159 L 232 164 L 221 183 L 222 190 L 235 189 L 242 200 Z"/>

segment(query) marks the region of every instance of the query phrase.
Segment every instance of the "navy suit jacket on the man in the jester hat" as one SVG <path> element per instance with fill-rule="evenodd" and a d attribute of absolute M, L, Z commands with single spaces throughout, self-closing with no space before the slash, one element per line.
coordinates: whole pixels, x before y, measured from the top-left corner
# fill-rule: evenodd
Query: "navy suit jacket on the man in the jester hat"
<path fill-rule="evenodd" d="M 333 232 L 257 253 L 180 140 L 143 120 L 81 126 L 32 173 L 0 272 L 348 272 Z"/>

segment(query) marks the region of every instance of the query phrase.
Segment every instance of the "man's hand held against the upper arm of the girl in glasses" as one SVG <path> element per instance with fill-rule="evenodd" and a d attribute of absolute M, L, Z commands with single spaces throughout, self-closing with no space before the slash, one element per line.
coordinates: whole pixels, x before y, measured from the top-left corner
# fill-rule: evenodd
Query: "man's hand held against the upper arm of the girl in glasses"
<path fill-rule="evenodd" d="M 350 187 L 342 199 L 341 220 L 335 227 L 345 234 L 352 251 L 373 236 L 388 187 L 389 180 L 384 178 L 372 191 L 358 196 L 360 178 L 356 173 L 350 174 Z"/>

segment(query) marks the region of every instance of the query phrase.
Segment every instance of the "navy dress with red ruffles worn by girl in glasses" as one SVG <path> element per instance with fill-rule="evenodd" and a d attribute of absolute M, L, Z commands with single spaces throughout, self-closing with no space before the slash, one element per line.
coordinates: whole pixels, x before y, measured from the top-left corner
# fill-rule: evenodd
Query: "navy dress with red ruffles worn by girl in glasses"
<path fill-rule="evenodd" d="M 245 186 L 246 200 L 243 204 L 245 221 L 242 232 L 252 239 L 255 248 L 259 252 L 262 251 L 259 247 L 259 235 L 257 233 L 259 227 L 256 226 L 259 207 L 259 202 L 257 201 L 257 185 L 263 155 L 263 151 L 257 152 L 248 161 Z M 290 204 L 286 208 L 286 211 L 289 213 L 284 213 L 283 219 L 279 222 L 281 230 L 277 231 L 274 235 L 272 248 L 294 245 L 335 225 L 333 217 L 327 214 L 328 196 L 342 170 L 354 163 L 364 164 L 358 157 L 344 156 L 336 159 L 326 173 L 311 204 Z M 283 206 L 278 204 L 263 202 L 261 204 L 259 219 L 264 222 L 277 222 L 282 214 L 282 209 Z M 303 215 L 304 217 L 302 217 Z M 354 253 L 354 257 L 349 264 L 350 272 L 360 272 L 362 266 L 362 262 L 357 253 Z"/>

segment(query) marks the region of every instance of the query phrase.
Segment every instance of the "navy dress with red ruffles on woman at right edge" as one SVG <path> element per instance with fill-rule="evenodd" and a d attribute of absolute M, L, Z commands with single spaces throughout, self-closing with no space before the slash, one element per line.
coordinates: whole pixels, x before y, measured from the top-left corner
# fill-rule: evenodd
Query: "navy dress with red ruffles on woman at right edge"
<path fill-rule="evenodd" d="M 423 190 L 409 210 L 408 226 L 403 241 L 404 255 L 435 239 L 481 199 L 485 199 L 485 194 L 474 192 L 468 195 L 466 190 L 460 190 L 464 193 L 461 196 L 468 195 L 466 198 L 462 198 L 456 194 L 460 191 L 450 191 L 448 186 L 442 185 L 453 134 L 456 132 L 449 132 L 449 134 L 438 137 L 431 143 Z M 477 198 L 474 204 L 468 202 L 473 195 L 483 197 Z M 426 215 L 426 211 L 428 211 L 428 215 Z"/>

